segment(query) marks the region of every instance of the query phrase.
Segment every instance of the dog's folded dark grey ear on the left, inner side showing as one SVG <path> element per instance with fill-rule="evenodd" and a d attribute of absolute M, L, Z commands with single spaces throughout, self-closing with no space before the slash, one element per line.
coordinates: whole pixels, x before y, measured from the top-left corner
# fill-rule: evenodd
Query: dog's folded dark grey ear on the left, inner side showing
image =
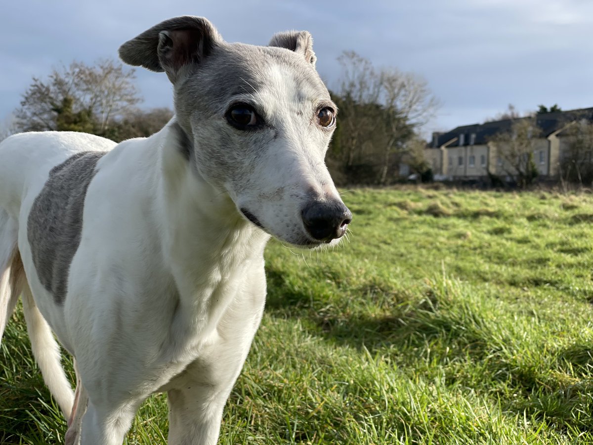
<path fill-rule="evenodd" d="M 216 28 L 203 17 L 184 15 L 153 26 L 119 47 L 122 61 L 167 73 L 175 83 L 181 67 L 199 63 L 222 42 Z"/>

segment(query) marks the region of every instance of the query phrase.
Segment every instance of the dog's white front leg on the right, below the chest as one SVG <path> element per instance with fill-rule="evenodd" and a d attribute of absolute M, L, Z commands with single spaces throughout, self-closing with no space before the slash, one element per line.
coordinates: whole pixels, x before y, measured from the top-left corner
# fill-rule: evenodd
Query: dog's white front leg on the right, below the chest
<path fill-rule="evenodd" d="M 182 389 L 169 390 L 168 444 L 215 445 L 231 387 L 187 383 Z"/>

